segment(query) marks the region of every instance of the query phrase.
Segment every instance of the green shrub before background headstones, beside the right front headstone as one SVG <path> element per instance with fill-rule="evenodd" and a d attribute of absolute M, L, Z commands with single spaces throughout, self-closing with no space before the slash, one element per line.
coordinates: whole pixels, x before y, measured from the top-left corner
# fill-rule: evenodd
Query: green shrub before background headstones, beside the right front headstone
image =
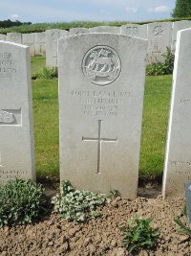
<path fill-rule="evenodd" d="M 175 55 L 171 52 L 169 47 L 166 47 L 166 53 L 162 55 L 164 57 L 164 63 L 154 62 L 148 64 L 146 67 L 147 76 L 162 76 L 171 75 L 174 68 Z"/>

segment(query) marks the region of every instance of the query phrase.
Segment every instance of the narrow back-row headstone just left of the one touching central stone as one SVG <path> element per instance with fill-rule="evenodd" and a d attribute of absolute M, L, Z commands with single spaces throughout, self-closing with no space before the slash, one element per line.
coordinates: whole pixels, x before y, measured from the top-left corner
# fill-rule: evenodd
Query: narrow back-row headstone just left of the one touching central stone
<path fill-rule="evenodd" d="M 46 56 L 45 33 L 34 33 L 34 51 L 35 55 Z"/>

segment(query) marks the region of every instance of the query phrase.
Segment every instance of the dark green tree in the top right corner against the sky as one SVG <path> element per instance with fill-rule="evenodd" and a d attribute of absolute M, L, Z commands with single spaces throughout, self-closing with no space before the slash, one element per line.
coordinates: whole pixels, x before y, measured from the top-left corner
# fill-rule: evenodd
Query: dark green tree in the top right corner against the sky
<path fill-rule="evenodd" d="M 175 9 L 172 12 L 172 17 L 191 17 L 191 0 L 177 0 Z"/>

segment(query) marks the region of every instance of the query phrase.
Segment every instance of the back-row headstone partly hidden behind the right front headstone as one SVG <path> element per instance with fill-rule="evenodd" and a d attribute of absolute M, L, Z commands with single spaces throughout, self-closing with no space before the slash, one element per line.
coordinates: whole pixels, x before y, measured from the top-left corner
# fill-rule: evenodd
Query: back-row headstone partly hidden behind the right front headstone
<path fill-rule="evenodd" d="M 191 28 L 191 21 L 190 20 L 181 20 L 181 21 L 173 22 L 173 34 L 172 34 L 171 51 L 175 52 L 178 31 L 188 29 L 188 28 Z"/>

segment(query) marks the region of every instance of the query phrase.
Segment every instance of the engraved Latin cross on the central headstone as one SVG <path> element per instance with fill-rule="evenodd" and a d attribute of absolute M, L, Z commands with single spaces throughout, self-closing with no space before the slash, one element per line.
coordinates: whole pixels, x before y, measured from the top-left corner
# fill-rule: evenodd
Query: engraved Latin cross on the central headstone
<path fill-rule="evenodd" d="M 96 141 L 97 142 L 97 170 L 96 174 L 101 173 L 101 143 L 102 142 L 117 142 L 116 139 L 110 139 L 110 138 L 101 138 L 101 126 L 102 126 L 102 120 L 98 120 L 98 137 L 97 138 L 90 138 L 90 137 L 83 137 L 82 141 Z"/>

